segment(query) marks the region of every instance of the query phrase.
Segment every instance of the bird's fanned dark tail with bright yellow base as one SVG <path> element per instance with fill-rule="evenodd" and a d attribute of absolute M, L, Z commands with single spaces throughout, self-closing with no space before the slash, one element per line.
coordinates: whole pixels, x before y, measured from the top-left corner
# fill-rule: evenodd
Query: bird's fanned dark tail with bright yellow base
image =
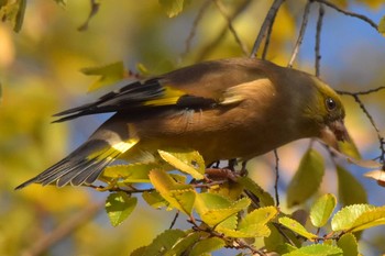
<path fill-rule="evenodd" d="M 66 158 L 44 170 L 36 177 L 19 185 L 22 189 L 31 183 L 43 186 L 56 182 L 57 187 L 92 183 L 110 163 L 132 148 L 139 138 L 129 137 L 129 127 L 105 123 L 91 137 Z M 130 126 L 130 125 L 129 125 Z M 132 134 L 132 133 L 131 133 Z"/>

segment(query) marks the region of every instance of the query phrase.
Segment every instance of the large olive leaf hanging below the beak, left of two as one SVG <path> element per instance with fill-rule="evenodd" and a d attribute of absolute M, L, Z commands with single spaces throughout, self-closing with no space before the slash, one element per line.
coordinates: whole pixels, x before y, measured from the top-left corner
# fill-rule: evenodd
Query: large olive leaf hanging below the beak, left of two
<path fill-rule="evenodd" d="M 322 156 L 315 149 L 305 153 L 299 167 L 287 188 L 287 205 L 305 202 L 319 188 L 324 174 Z"/>

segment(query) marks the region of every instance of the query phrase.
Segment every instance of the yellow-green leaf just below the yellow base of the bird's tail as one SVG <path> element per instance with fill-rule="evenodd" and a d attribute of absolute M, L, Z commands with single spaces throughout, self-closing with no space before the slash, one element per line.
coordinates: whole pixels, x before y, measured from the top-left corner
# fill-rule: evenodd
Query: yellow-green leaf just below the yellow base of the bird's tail
<path fill-rule="evenodd" d="M 150 170 L 158 167 L 155 164 L 113 165 L 105 168 L 101 179 L 121 179 L 122 182 L 150 182 Z"/>

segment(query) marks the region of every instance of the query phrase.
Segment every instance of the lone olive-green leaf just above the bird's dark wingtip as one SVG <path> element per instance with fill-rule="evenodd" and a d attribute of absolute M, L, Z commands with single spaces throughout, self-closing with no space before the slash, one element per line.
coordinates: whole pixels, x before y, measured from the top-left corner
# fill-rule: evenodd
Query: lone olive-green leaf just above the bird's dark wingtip
<path fill-rule="evenodd" d="M 125 73 L 122 62 L 112 63 L 100 67 L 82 68 L 80 71 L 87 76 L 100 76 L 100 78 L 88 88 L 88 91 L 94 91 L 105 86 L 113 85 L 114 82 L 123 79 Z"/>

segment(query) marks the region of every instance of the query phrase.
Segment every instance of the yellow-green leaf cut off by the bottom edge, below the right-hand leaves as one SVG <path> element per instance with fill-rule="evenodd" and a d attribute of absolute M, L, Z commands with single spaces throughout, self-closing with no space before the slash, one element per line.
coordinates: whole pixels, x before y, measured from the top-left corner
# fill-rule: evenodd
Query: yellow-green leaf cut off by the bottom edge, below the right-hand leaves
<path fill-rule="evenodd" d="M 309 246 L 304 246 L 301 248 L 295 249 L 283 256 L 338 256 L 342 255 L 342 249 L 326 244 L 314 244 Z"/>

